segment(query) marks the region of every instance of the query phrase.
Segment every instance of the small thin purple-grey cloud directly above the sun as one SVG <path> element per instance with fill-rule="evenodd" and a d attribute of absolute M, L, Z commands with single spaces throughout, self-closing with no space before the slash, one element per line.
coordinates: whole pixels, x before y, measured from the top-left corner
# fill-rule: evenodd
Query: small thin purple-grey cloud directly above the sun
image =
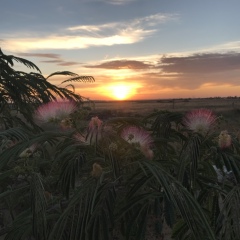
<path fill-rule="evenodd" d="M 85 65 L 86 68 L 104 68 L 104 69 L 148 69 L 150 64 L 134 60 L 115 60 L 108 61 L 98 65 Z"/>

